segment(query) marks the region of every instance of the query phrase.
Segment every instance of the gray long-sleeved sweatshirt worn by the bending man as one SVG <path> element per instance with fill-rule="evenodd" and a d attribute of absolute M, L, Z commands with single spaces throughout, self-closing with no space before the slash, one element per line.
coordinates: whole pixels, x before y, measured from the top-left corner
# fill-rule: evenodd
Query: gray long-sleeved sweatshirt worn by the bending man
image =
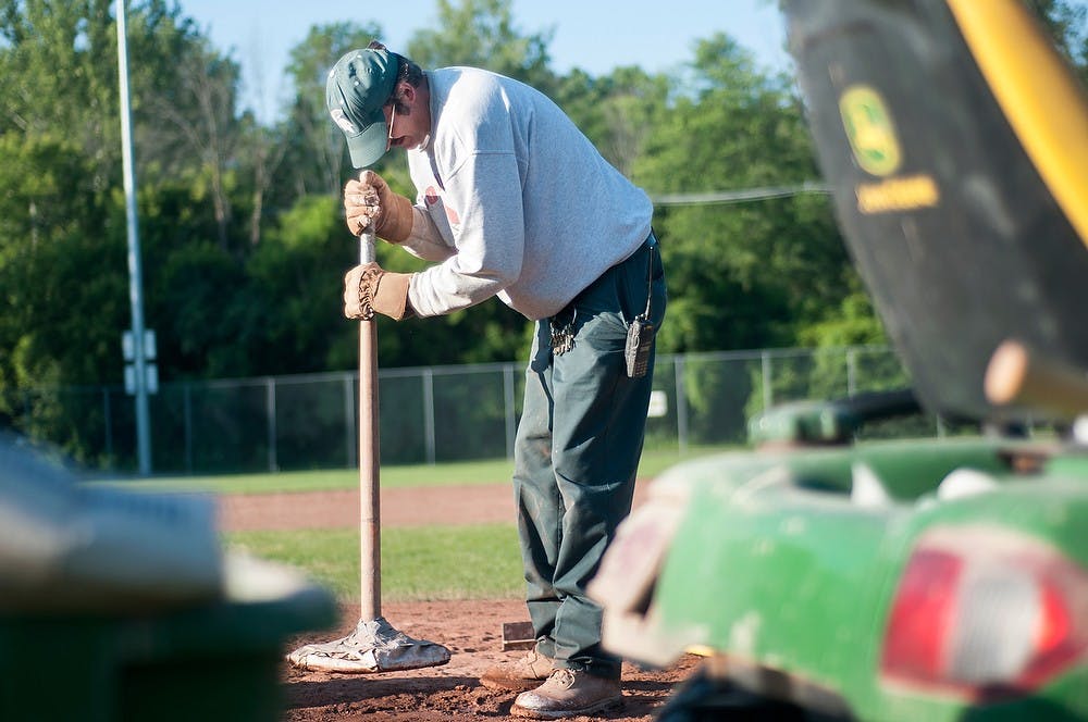
<path fill-rule="evenodd" d="M 405 248 L 438 261 L 412 308 L 449 313 L 492 296 L 554 315 L 650 235 L 653 206 L 542 92 L 487 71 L 426 73 L 431 138 L 408 151 L 416 225 Z"/>

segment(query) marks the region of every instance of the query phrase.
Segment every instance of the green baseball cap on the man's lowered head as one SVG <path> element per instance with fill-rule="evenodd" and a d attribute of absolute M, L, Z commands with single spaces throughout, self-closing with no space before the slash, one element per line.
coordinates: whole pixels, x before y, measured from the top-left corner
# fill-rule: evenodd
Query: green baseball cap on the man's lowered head
<path fill-rule="evenodd" d="M 351 165 L 376 163 L 388 148 L 390 128 L 382 107 L 390 100 L 399 70 L 385 49 L 353 50 L 336 61 L 325 82 L 325 107 L 347 138 Z"/>

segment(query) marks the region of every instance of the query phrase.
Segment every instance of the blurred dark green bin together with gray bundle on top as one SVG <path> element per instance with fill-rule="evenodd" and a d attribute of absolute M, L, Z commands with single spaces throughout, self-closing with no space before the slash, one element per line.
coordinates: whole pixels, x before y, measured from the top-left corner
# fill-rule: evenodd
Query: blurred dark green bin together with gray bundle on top
<path fill-rule="evenodd" d="M 222 553 L 208 498 L 81 483 L 50 456 L 0 433 L 0 720 L 282 719 L 283 642 L 331 627 L 333 596 Z"/>

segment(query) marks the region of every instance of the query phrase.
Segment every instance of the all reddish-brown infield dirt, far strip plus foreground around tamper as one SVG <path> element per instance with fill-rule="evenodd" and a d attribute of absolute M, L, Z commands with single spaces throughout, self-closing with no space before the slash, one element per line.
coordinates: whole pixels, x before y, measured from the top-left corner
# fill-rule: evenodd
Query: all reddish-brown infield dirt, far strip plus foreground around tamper
<path fill-rule="evenodd" d="M 640 484 L 644 487 L 644 484 Z M 636 503 L 639 497 L 636 495 Z M 358 490 L 224 496 L 220 525 L 224 531 L 306 528 L 358 524 Z M 514 522 L 508 484 L 383 489 L 383 526 Z M 527 620 L 521 599 L 384 602 L 383 615 L 400 632 L 444 645 L 450 661 L 442 667 L 378 674 L 336 674 L 298 670 L 283 663 L 287 722 L 467 722 L 515 720 L 515 693 L 480 684 L 485 669 L 521 652 L 503 651 L 503 622 Z M 287 640 L 284 653 L 302 644 L 331 642 L 359 622 L 359 607 L 344 605 L 339 625 Z M 593 719 L 648 721 L 676 685 L 687 679 L 697 658 L 687 656 L 665 670 L 623 664 L 623 706 Z M 579 718 L 576 718 L 579 719 Z M 582 720 L 588 718 L 580 718 Z"/>

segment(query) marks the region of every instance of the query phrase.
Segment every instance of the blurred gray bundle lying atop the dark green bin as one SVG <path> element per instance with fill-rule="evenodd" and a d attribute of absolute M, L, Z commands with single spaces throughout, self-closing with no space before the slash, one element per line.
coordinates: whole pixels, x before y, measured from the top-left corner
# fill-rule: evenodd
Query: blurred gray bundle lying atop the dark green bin
<path fill-rule="evenodd" d="M 221 595 L 212 499 L 77 481 L 0 435 L 0 611 L 153 610 Z"/>

